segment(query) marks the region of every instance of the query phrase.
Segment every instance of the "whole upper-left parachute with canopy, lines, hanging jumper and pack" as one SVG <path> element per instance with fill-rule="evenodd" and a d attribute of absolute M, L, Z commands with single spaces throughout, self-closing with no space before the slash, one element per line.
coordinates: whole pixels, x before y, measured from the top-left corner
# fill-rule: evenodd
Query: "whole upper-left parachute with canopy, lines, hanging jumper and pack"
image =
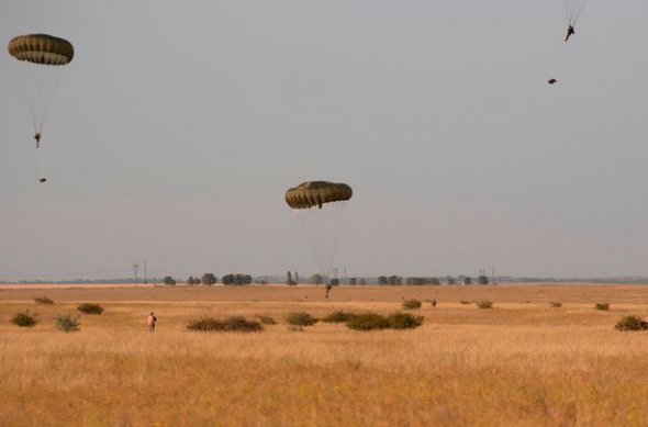
<path fill-rule="evenodd" d="M 54 101 L 63 70 L 74 56 L 72 44 L 64 38 L 47 34 L 29 34 L 12 38 L 8 46 L 9 54 L 23 65 L 23 86 L 32 116 L 36 149 L 41 148 L 43 126 Z M 43 166 L 38 150 L 40 182 Z"/>

